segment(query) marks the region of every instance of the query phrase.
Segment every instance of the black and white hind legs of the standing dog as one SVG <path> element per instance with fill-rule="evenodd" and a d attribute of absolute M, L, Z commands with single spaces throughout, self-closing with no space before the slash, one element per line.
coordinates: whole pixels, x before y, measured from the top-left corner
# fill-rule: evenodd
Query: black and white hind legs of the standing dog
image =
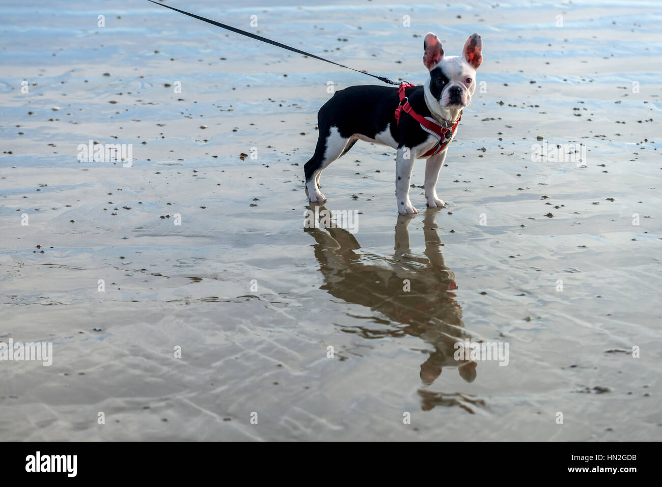
<path fill-rule="evenodd" d="M 338 128 L 331 127 L 328 132 L 320 130 L 315 154 L 304 165 L 306 189 L 310 202 L 323 202 L 326 198 L 320 193 L 320 173 L 333 161 L 344 155 L 355 144 L 356 139 L 343 137 Z"/>

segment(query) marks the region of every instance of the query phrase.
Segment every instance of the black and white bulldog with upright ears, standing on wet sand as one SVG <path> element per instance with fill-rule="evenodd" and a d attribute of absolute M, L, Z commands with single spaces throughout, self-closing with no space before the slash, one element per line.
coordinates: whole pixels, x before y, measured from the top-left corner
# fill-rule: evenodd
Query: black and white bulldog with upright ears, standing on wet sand
<path fill-rule="evenodd" d="M 413 114 L 402 111 L 397 122 L 395 112 L 401 105 L 399 89 L 383 86 L 351 86 L 337 91 L 320 109 L 315 154 L 305 165 L 306 189 L 311 202 L 326 201 L 319 188 L 322 170 L 346 154 L 357 140 L 365 140 L 397 148 L 395 194 L 401 214 L 418 213 L 409 200 L 416 157 L 427 157 L 424 189 L 428 206 L 445 205 L 437 196 L 437 179 L 446 159 L 448 143 L 455 136 L 457 120 L 476 89 L 475 75 L 483 60 L 483 44 L 481 36 L 471 34 L 462 56 L 444 57 L 441 42 L 429 33 L 423 46 L 423 64 L 430 71 L 430 77 L 423 86 L 407 87 L 402 95 L 402 98 L 406 96 L 404 101 L 408 101 Z M 418 120 L 414 116 L 418 116 Z M 421 116 L 434 126 L 446 129 L 444 134 L 439 136 L 426 130 L 419 120 L 429 123 Z M 444 136 L 446 140 L 440 140 Z M 430 155 L 435 150 L 438 152 Z"/>

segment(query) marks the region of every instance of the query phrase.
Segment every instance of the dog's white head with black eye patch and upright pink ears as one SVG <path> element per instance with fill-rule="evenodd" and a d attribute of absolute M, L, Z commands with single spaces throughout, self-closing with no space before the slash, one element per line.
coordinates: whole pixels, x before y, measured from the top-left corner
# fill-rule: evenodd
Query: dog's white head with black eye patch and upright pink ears
<path fill-rule="evenodd" d="M 483 42 L 471 34 L 462 56 L 446 56 L 439 38 L 428 33 L 423 42 L 423 64 L 430 71 L 429 90 L 442 109 L 461 109 L 469 105 L 476 89 L 476 69 L 483 62 Z"/>

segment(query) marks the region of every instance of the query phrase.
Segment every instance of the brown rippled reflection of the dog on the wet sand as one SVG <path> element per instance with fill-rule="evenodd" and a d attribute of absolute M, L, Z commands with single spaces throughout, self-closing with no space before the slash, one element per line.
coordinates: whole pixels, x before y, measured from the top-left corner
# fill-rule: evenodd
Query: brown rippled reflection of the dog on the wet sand
<path fill-rule="evenodd" d="M 313 205 L 309 208 L 314 210 Z M 319 207 L 320 212 L 324 209 Z M 407 334 L 432 345 L 428 359 L 420 366 L 420 378 L 426 385 L 432 384 L 444 367 L 457 367 L 464 380 L 473 382 L 477 365 L 474 361 L 453 358 L 453 345 L 471 337 L 462 322 L 462 309 L 455 301 L 455 275 L 446 267 L 441 252 L 442 241 L 436 225 L 439 210 L 426 210 L 424 257 L 412 255 L 409 248 L 408 226 L 413 215 L 398 217 L 393 257 L 357 253 L 361 246 L 342 228 L 305 228 L 317 242 L 314 253 L 324 276 L 321 288 L 336 298 L 361 304 L 401 324 L 387 327 L 386 331 L 359 326 L 361 335 L 375 338 Z M 442 398 L 425 390 L 419 393 L 424 409 L 477 402 L 464 394 L 444 394 Z"/>

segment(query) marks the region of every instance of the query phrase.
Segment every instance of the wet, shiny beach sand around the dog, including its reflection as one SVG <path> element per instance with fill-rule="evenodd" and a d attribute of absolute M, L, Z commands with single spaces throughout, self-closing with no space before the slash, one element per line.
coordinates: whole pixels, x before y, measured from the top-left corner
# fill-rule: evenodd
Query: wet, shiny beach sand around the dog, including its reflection
<path fill-rule="evenodd" d="M 54 360 L 0 362 L 1 439 L 659 439 L 660 5 L 169 4 L 418 84 L 426 32 L 446 54 L 479 32 L 447 206 L 421 160 L 398 216 L 395 151 L 359 142 L 320 206 L 358 231 L 304 228 L 328 81 L 369 77 L 148 2 L 103 28 L 89 3 L 3 4 L 0 340 Z M 78 162 L 88 140 L 132 167 Z M 508 365 L 455 360 L 465 337 Z"/>

